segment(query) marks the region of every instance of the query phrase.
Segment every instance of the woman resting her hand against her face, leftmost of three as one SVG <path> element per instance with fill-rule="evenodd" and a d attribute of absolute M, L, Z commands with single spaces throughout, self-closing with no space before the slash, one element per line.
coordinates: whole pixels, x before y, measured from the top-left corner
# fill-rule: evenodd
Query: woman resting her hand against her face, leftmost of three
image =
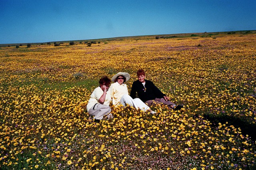
<path fill-rule="evenodd" d="M 111 80 L 108 77 L 102 77 L 99 81 L 100 86 L 94 89 L 86 106 L 88 114 L 94 116 L 93 119 L 95 119 L 95 122 L 99 122 L 103 119 L 104 115 L 106 115 L 108 119 L 113 117 L 109 107 L 111 101 L 108 91 L 110 82 Z"/>

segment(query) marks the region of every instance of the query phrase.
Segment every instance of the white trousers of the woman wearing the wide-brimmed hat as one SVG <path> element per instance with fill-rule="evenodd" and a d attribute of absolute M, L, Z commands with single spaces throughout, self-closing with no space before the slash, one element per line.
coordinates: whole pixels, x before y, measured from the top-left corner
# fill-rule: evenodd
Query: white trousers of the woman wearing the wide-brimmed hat
<path fill-rule="evenodd" d="M 132 99 L 132 97 L 130 97 L 130 95 L 123 95 L 120 99 L 120 103 L 123 106 L 126 106 L 127 104 L 136 108 L 136 109 L 140 109 L 142 111 L 147 111 L 148 109 L 150 109 L 150 107 L 148 107 L 148 105 L 146 105 L 143 101 L 141 101 L 139 98 L 135 98 Z"/>

